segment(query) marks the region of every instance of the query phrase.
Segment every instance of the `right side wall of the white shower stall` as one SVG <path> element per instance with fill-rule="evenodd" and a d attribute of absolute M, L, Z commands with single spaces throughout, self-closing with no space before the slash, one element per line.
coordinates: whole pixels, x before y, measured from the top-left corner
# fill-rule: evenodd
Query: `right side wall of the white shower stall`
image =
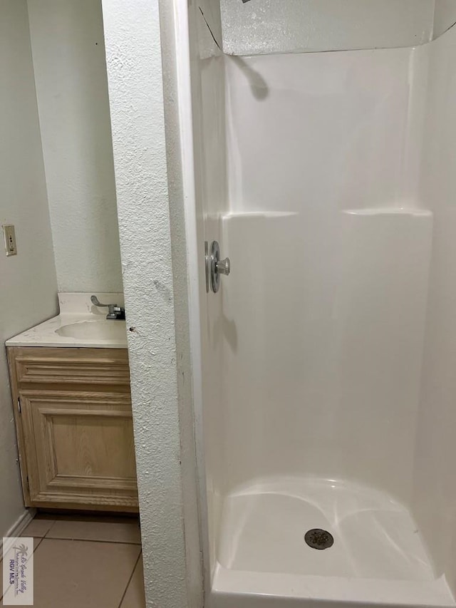
<path fill-rule="evenodd" d="M 430 45 L 421 187 L 434 213 L 413 510 L 456 592 L 456 29 Z"/>

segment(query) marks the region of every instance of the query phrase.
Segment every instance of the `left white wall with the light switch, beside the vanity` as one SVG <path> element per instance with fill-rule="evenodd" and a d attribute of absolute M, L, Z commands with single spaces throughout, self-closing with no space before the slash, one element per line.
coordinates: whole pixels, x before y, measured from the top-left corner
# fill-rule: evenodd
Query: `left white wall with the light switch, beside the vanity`
<path fill-rule="evenodd" d="M 14 224 L 18 254 L 0 243 L 0 533 L 24 513 L 4 341 L 56 314 L 38 109 L 25 0 L 0 3 L 0 224 Z"/>

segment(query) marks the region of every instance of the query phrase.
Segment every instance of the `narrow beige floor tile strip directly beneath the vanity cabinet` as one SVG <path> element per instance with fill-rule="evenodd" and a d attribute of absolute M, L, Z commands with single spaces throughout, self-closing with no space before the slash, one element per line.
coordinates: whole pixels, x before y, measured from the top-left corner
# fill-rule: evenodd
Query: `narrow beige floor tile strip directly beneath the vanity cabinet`
<path fill-rule="evenodd" d="M 118 523 L 88 520 L 56 521 L 46 538 L 127 542 L 130 545 L 140 545 L 141 542 L 140 527 L 135 520 Z"/>

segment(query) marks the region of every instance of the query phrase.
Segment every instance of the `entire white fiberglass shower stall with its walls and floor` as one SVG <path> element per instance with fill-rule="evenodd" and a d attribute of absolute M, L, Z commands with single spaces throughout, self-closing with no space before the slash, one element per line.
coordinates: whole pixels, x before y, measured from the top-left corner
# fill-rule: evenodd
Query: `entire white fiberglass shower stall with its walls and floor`
<path fill-rule="evenodd" d="M 455 4 L 190 2 L 209 608 L 456 606 Z"/>

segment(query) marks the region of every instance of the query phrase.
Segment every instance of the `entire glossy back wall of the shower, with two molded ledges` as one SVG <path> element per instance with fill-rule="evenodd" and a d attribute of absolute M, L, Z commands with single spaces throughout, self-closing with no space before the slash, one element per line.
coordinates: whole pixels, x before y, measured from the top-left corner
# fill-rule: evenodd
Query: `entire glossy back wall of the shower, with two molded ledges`
<path fill-rule="evenodd" d="M 229 490 L 314 476 L 410 503 L 432 239 L 417 57 L 226 58 Z"/>

